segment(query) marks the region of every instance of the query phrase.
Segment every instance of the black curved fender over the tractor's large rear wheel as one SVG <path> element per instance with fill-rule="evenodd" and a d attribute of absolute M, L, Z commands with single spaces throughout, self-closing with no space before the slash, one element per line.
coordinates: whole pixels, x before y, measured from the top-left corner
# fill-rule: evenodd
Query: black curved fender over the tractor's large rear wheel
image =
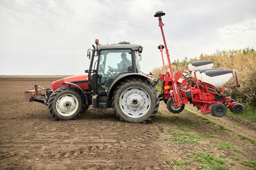
<path fill-rule="evenodd" d="M 123 73 L 118 75 L 118 77 L 116 77 L 116 79 L 114 80 L 114 82 L 111 84 L 111 86 L 109 87 L 109 90 L 107 92 L 107 107 L 111 108 L 111 98 L 114 94 L 114 90 L 116 89 L 116 86 L 118 86 L 118 84 L 120 82 L 122 82 L 122 80 L 125 80 L 129 77 L 140 77 L 142 80 L 149 80 L 150 82 L 152 82 L 152 84 L 154 84 L 155 80 L 145 74 L 142 73 Z"/>

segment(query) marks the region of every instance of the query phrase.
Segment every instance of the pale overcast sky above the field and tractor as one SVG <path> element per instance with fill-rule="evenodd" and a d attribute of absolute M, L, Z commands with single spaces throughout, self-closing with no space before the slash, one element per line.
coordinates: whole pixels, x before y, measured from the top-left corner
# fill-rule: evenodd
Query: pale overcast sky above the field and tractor
<path fill-rule="evenodd" d="M 255 0 L 0 0 L 0 75 L 78 75 L 100 44 L 144 47 L 142 70 L 161 66 L 162 17 L 171 60 L 256 47 Z"/>

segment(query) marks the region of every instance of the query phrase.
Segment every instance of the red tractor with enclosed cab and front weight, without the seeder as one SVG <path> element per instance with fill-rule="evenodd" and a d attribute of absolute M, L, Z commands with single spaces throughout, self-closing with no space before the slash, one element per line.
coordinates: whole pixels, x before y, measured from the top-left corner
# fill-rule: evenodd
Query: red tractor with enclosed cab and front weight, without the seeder
<path fill-rule="evenodd" d="M 97 39 L 95 43 L 87 51 L 87 74 L 56 80 L 52 89 L 35 85 L 35 90 L 25 92 L 26 99 L 48 106 L 56 120 L 76 119 L 90 105 L 98 110 L 114 108 L 122 121 L 151 120 L 159 98 L 153 86 L 156 81 L 140 71 L 142 46 L 129 42 L 99 45 Z"/>

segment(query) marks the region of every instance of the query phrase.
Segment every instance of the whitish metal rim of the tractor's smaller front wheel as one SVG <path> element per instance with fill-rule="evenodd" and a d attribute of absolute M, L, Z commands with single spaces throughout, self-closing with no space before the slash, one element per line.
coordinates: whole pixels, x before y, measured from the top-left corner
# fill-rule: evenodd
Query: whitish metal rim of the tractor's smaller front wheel
<path fill-rule="evenodd" d="M 64 117 L 69 117 L 78 109 L 78 99 L 72 94 L 65 94 L 58 97 L 56 110 Z"/>

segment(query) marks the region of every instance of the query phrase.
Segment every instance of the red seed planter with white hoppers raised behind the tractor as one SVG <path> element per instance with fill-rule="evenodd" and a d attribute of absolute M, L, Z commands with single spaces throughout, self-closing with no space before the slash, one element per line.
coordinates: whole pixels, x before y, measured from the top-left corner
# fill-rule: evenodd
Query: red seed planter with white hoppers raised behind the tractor
<path fill-rule="evenodd" d="M 241 113 L 242 104 L 238 104 L 231 97 L 224 94 L 224 88 L 239 87 L 237 71 L 226 71 L 224 69 L 212 69 L 212 61 L 199 61 L 189 64 L 189 71 L 177 71 L 173 75 L 171 60 L 167 43 L 164 38 L 162 27 L 162 16 L 165 13 L 160 11 L 154 15 L 158 17 L 158 26 L 160 27 L 164 46 L 169 64 L 169 72 L 160 74 L 160 80 L 163 81 L 162 94 L 160 97 L 167 104 L 170 112 L 179 113 L 184 109 L 185 104 L 193 104 L 202 114 L 212 114 L 215 117 L 224 117 L 226 108 L 231 112 Z M 162 45 L 158 46 L 162 55 Z M 164 59 L 163 64 L 164 64 Z M 163 67 L 165 67 L 163 65 Z M 231 77 L 234 77 L 235 85 L 222 87 Z"/>

